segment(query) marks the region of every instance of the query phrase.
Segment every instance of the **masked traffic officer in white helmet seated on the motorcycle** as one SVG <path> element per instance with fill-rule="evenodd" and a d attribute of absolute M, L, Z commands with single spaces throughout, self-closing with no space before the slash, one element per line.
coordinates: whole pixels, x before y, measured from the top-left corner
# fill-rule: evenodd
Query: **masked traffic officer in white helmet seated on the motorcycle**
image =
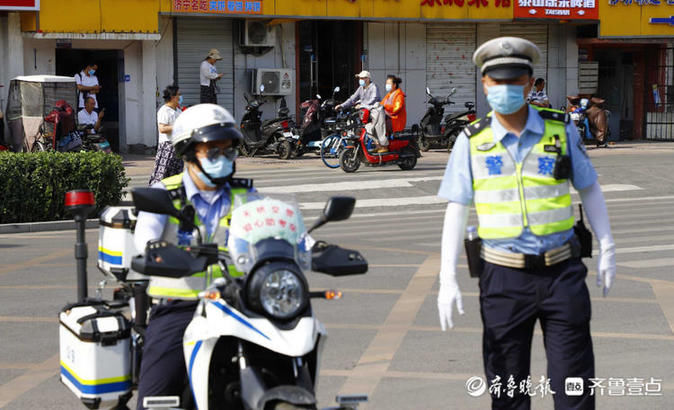
<path fill-rule="evenodd" d="M 169 190 L 176 208 L 191 204 L 204 243 L 225 246 L 235 195 L 252 191 L 252 181 L 233 178 L 236 146 L 242 140 L 234 118 L 214 104 L 199 104 L 184 111 L 173 125 L 171 143 L 185 161 L 186 172 L 166 178 L 153 188 Z M 178 245 L 194 244 L 191 233 L 179 231 L 178 221 L 166 215 L 140 212 L 135 244 L 145 249 L 150 240 Z M 218 269 L 213 277 L 222 276 Z M 143 398 L 183 393 L 186 381 L 182 339 L 204 290 L 204 274 L 183 279 L 150 278 L 148 294 L 153 306 L 145 334 L 138 386 L 138 409 Z"/>

